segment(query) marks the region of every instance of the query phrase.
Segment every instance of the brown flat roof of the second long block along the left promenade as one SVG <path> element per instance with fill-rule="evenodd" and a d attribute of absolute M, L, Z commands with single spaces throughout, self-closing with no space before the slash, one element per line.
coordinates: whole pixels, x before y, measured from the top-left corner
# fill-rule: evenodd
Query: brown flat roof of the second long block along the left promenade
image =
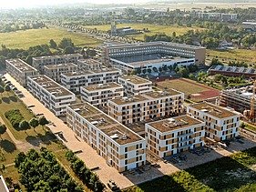
<path fill-rule="evenodd" d="M 29 77 L 36 82 L 39 86 L 42 86 L 53 96 L 70 96 L 74 95 L 71 91 L 67 90 L 64 86 L 60 86 L 54 80 L 45 75 L 31 76 Z"/>

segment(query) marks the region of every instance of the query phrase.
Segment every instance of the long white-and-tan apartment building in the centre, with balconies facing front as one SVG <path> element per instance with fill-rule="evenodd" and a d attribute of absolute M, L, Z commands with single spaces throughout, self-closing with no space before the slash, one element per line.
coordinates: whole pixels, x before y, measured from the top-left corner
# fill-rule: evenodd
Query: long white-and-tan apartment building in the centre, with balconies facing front
<path fill-rule="evenodd" d="M 108 100 L 108 115 L 122 124 L 148 121 L 159 116 L 174 116 L 183 111 L 184 94 L 169 89 L 138 96 Z"/>

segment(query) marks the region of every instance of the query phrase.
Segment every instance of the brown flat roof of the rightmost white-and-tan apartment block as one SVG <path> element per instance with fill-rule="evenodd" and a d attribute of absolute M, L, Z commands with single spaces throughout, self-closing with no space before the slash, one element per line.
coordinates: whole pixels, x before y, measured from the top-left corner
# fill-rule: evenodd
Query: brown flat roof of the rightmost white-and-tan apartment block
<path fill-rule="evenodd" d="M 208 102 L 201 102 L 197 104 L 192 104 L 190 107 L 196 108 L 203 113 L 209 114 L 211 116 L 216 116 L 218 118 L 226 118 L 229 116 L 236 116 L 237 113 L 228 110 L 227 108 L 216 106 Z"/>

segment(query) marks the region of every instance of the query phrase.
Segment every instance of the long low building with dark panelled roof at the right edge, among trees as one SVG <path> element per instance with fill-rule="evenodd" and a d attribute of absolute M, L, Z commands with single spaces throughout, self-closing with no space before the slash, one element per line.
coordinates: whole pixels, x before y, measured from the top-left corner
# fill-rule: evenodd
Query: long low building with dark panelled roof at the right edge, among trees
<path fill-rule="evenodd" d="M 210 76 L 221 74 L 223 76 L 244 76 L 250 78 L 256 76 L 254 68 L 238 67 L 238 66 L 211 66 L 208 70 Z"/>

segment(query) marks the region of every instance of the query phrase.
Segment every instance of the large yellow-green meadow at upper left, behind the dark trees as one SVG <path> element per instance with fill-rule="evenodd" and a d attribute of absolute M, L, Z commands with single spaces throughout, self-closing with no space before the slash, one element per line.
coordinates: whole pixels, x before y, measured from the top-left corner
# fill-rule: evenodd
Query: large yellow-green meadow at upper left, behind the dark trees
<path fill-rule="evenodd" d="M 8 48 L 28 48 L 29 46 L 48 44 L 54 39 L 58 44 L 62 38 L 71 38 L 77 46 L 97 46 L 101 42 L 84 34 L 67 32 L 61 28 L 29 29 L 11 33 L 0 33 L 0 45 Z"/>

